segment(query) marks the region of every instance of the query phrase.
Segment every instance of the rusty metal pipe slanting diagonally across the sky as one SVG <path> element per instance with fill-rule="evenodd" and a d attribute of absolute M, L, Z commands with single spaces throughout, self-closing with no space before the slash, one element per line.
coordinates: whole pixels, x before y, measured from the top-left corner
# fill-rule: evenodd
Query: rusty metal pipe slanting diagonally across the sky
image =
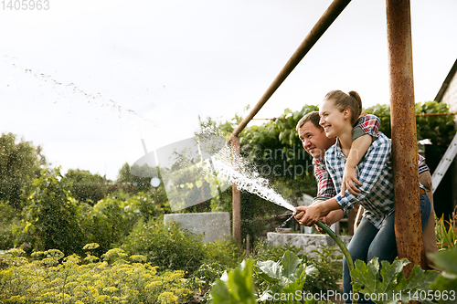
<path fill-rule="evenodd" d="M 263 107 L 265 102 L 271 98 L 271 95 L 278 89 L 282 82 L 291 74 L 293 68 L 295 68 L 302 58 L 308 53 L 311 47 L 317 42 L 317 40 L 324 34 L 325 30 L 332 25 L 335 21 L 336 17 L 340 15 L 340 13 L 345 9 L 345 6 L 349 4 L 351 0 L 334 0 L 332 4 L 330 4 L 327 10 L 324 12 L 324 15 L 320 17 L 317 23 L 314 25 L 313 29 L 309 32 L 309 34 L 304 38 L 302 44 L 295 50 L 292 57 L 287 61 L 285 66 L 282 68 L 276 79 L 273 80 L 270 87 L 267 91 L 263 94 L 257 104 L 250 110 L 248 116 L 246 116 L 241 122 L 237 129 L 235 129 L 229 141 L 232 137 L 238 136 L 241 131 L 248 125 L 250 120 L 257 114 L 257 112 Z"/>

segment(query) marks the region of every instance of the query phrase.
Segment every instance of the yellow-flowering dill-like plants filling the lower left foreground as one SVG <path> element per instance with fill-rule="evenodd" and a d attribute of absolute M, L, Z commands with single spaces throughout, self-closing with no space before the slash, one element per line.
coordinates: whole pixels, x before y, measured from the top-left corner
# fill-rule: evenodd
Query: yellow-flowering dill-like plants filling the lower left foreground
<path fill-rule="evenodd" d="M 193 296 L 183 271 L 162 274 L 141 257 L 123 257 L 81 264 L 80 257 L 63 257 L 58 250 L 32 254 L 34 261 L 13 250 L 0 258 L 0 303 L 183 303 Z M 121 249 L 106 253 L 108 259 Z"/>

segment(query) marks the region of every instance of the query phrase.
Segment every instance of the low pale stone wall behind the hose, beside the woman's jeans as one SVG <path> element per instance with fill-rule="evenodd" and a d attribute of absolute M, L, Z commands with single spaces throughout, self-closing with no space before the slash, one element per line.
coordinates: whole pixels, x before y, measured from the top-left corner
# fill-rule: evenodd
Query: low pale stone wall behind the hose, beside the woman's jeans
<path fill-rule="evenodd" d="M 345 243 L 345 246 L 351 241 L 351 236 L 339 236 L 339 238 Z M 335 246 L 336 243 L 332 237 L 321 234 L 284 234 L 269 232 L 267 234 L 267 241 L 269 246 L 279 246 L 284 244 L 290 244 L 292 246 L 301 247 L 300 253 L 306 253 L 309 257 L 316 257 L 314 250 L 320 250 L 324 246 Z M 336 246 L 338 252 L 343 254 L 338 246 Z"/>

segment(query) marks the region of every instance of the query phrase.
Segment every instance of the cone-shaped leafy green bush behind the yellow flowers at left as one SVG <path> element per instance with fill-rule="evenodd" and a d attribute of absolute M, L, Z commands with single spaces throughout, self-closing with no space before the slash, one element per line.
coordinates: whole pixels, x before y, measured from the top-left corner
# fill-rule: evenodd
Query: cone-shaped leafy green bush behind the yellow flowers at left
<path fill-rule="evenodd" d="M 62 182 L 60 168 L 43 170 L 34 181 L 35 192 L 27 200 L 16 242 L 36 250 L 58 248 L 65 254 L 79 253 L 83 243 L 80 205 Z"/>

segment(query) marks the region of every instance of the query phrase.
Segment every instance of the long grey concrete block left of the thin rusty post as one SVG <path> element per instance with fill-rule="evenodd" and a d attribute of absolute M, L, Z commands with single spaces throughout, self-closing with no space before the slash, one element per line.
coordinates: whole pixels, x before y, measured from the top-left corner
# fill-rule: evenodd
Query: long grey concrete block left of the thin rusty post
<path fill-rule="evenodd" d="M 165 225 L 172 222 L 190 232 L 204 235 L 204 242 L 214 242 L 218 239 L 227 240 L 231 236 L 228 212 L 164 215 Z"/>

